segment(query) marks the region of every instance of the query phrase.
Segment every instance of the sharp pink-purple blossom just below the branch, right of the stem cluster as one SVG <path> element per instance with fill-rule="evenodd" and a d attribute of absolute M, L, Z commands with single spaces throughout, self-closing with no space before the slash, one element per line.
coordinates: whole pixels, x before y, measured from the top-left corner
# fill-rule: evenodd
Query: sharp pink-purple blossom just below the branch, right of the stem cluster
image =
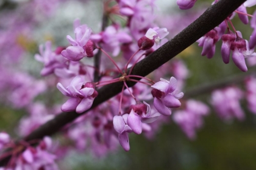
<path fill-rule="evenodd" d="M 153 86 L 152 95 L 154 97 L 154 106 L 162 115 L 171 115 L 170 108 L 180 107 L 180 98 L 183 97 L 183 92 L 177 93 L 177 80 L 174 77 L 167 81 L 160 78 Z"/>

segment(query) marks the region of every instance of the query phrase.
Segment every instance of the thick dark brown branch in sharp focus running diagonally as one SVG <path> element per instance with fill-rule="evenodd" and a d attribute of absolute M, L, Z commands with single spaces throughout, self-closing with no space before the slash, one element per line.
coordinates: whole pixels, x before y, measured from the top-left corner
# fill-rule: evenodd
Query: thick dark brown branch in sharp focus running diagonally
<path fill-rule="evenodd" d="M 236 10 L 246 0 L 221 0 L 217 4 L 212 5 L 207 9 L 203 15 L 201 15 L 196 21 L 190 24 L 186 29 L 182 30 L 173 39 L 166 42 L 165 45 L 160 47 L 151 55 L 147 56 L 144 60 L 141 60 L 134 67 L 132 74 L 146 76 L 158 67 L 165 64 L 185 50 L 188 46 L 193 44 L 197 39 L 205 35 L 205 33 L 214 29 L 217 25 L 221 24 L 227 16 Z M 129 72 L 129 70 L 128 70 Z M 128 73 L 127 72 L 127 73 Z M 129 86 L 133 86 L 135 83 L 127 83 Z M 98 106 L 109 98 L 114 97 L 121 92 L 123 83 L 109 84 L 98 90 L 99 95 L 95 98 L 93 106 Z M 85 112 L 83 113 L 85 114 Z M 76 112 L 63 112 L 57 115 L 53 120 L 48 121 L 42 126 L 38 127 L 35 131 L 29 134 L 25 140 L 34 140 L 43 138 L 46 135 L 55 134 L 68 123 L 71 123 L 77 117 L 83 114 L 77 114 Z M 0 161 L 0 166 L 5 165 L 8 159 Z"/>

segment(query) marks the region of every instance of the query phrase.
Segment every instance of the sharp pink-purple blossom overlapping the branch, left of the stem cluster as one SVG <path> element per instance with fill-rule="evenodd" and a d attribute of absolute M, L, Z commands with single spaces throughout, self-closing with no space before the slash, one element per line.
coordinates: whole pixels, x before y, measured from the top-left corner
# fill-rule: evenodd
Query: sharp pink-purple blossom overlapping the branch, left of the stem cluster
<path fill-rule="evenodd" d="M 98 96 L 98 92 L 94 89 L 93 83 L 85 83 L 82 77 L 75 77 L 68 87 L 63 87 L 61 83 L 57 84 L 57 88 L 63 95 L 70 97 L 66 103 L 62 105 L 63 112 L 71 112 L 76 110 L 77 113 L 85 112 L 90 109 L 93 100 Z"/>

